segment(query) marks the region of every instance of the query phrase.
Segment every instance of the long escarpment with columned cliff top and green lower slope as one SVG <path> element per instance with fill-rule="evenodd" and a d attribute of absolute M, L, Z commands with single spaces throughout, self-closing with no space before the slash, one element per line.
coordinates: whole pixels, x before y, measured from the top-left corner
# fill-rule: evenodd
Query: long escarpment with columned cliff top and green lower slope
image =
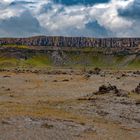
<path fill-rule="evenodd" d="M 140 38 L 1 38 L 0 59 L 1 66 L 14 61 L 12 65 L 34 62 L 35 65 L 139 68 Z M 18 60 L 22 61 L 15 64 Z"/>

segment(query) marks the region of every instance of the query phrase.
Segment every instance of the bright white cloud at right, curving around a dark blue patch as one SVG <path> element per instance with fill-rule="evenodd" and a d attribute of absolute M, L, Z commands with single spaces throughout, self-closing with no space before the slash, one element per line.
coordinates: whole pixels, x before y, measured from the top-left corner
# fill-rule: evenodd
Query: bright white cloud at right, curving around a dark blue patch
<path fill-rule="evenodd" d="M 133 22 L 120 17 L 118 9 L 125 8 L 132 2 L 133 0 L 112 0 L 107 4 L 98 4 L 91 8 L 90 15 L 111 31 L 116 32 L 119 29 L 127 29 L 132 26 Z"/>

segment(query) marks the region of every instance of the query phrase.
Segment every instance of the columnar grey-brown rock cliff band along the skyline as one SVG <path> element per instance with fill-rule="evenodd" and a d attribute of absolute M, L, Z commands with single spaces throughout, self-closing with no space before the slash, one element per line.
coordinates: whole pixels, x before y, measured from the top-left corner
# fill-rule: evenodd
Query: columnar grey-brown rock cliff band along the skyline
<path fill-rule="evenodd" d="M 132 48 L 140 46 L 140 38 L 85 38 L 85 37 L 38 36 L 31 38 L 1 38 L 0 44 L 77 47 L 77 48 L 78 47 Z"/>

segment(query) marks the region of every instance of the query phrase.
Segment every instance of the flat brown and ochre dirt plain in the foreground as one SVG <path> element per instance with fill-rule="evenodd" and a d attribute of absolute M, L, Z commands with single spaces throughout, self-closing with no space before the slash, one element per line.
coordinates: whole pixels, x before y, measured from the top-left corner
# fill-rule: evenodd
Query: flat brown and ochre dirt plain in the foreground
<path fill-rule="evenodd" d="M 0 140 L 139 140 L 139 83 L 139 71 L 1 71 Z"/>

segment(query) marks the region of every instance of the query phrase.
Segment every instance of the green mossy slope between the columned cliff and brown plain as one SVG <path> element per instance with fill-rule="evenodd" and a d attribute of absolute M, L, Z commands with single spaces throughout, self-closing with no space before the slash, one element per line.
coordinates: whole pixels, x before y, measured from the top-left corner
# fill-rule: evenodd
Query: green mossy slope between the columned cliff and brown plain
<path fill-rule="evenodd" d="M 10 49 L 0 52 L 0 67 L 101 67 L 140 69 L 139 54 L 104 54 L 99 51 Z"/>

